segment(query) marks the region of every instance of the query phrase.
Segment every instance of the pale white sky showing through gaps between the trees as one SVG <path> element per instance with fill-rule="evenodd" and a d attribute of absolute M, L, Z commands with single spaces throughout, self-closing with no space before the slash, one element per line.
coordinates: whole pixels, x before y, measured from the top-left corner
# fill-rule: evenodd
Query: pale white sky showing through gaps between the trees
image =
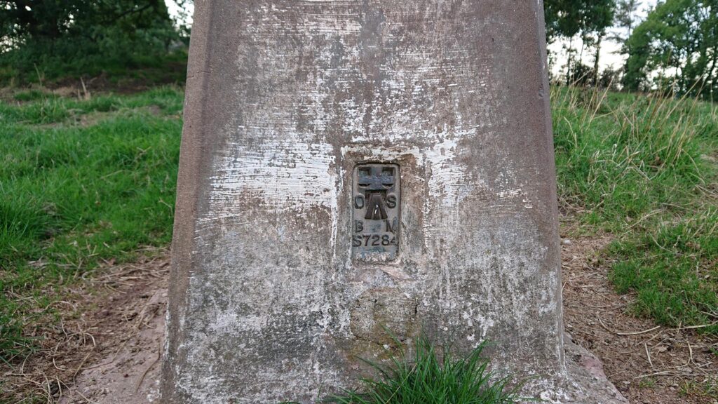
<path fill-rule="evenodd" d="M 411 1 L 411 0 L 409 0 Z M 647 14 L 647 10 L 651 7 L 656 5 L 656 1 L 658 0 L 643 0 L 640 1 L 640 6 L 638 7 L 638 12 L 640 14 L 641 18 L 645 18 L 645 15 Z M 164 0 L 165 4 L 167 4 L 167 9 L 169 9 L 169 14 L 172 15 L 172 17 L 176 17 L 178 12 L 180 11 L 180 8 L 177 6 L 177 3 L 174 2 L 174 0 Z M 194 11 L 194 5 L 190 4 L 189 16 L 187 18 L 187 22 L 191 25 L 192 24 L 192 12 Z M 555 55 L 556 60 L 554 64 L 551 66 L 551 70 L 554 74 L 561 74 L 561 71 L 564 70 L 566 65 L 566 52 L 564 50 L 564 47 L 568 45 L 568 41 L 561 40 L 556 41 L 551 46 L 549 46 L 549 50 L 551 50 L 551 53 Z M 574 40 L 573 42 L 574 47 L 576 47 L 578 50 L 581 49 L 581 41 L 580 40 Z M 623 65 L 624 57 L 623 55 L 619 54 L 620 45 L 617 42 L 614 41 L 604 41 L 601 49 L 601 58 L 600 58 L 600 67 L 599 70 L 604 70 L 605 68 L 620 68 L 621 65 Z M 593 65 L 593 53 L 594 50 L 589 50 L 588 52 L 584 52 L 583 55 L 583 62 L 587 65 Z"/>

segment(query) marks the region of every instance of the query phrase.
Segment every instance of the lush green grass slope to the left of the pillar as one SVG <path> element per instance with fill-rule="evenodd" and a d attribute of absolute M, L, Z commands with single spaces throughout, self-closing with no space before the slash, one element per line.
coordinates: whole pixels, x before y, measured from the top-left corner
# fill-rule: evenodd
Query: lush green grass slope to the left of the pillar
<path fill-rule="evenodd" d="M 32 351 L 55 293 L 172 234 L 182 91 L 0 104 L 0 359 Z"/>

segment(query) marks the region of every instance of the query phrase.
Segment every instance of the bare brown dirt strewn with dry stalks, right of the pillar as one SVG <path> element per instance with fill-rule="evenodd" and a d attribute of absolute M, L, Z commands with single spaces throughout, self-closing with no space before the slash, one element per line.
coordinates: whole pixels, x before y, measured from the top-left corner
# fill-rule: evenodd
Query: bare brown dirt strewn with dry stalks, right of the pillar
<path fill-rule="evenodd" d="M 718 339 L 695 329 L 656 326 L 630 315 L 632 295 L 617 295 L 602 250 L 610 235 L 563 244 L 564 325 L 602 362 L 632 404 L 718 403 Z"/>

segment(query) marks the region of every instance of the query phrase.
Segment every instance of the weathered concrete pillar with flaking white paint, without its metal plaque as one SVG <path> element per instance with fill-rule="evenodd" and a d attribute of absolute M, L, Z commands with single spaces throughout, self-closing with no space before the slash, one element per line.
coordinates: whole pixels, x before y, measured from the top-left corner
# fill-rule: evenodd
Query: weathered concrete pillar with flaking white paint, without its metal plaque
<path fill-rule="evenodd" d="M 384 327 L 568 397 L 541 1 L 195 10 L 164 400 L 309 402 Z M 361 162 L 401 167 L 393 262 L 352 258 Z"/>

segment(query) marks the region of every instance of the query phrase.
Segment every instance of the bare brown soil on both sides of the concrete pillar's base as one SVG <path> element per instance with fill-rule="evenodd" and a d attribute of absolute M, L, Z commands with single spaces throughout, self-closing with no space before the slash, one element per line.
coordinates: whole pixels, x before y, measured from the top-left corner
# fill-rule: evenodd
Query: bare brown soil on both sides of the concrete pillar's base
<path fill-rule="evenodd" d="M 570 224 L 564 225 L 569 230 Z M 601 259 L 610 236 L 563 244 L 564 323 L 577 344 L 602 360 L 607 377 L 631 404 L 718 404 L 718 339 L 630 316 L 632 296 L 617 295 Z M 169 254 L 154 251 L 132 265 L 95 274 L 60 304 L 42 351 L 1 367 L 10 402 L 131 404 L 157 402 L 164 340 Z M 711 390 L 713 389 L 713 390 Z"/>

